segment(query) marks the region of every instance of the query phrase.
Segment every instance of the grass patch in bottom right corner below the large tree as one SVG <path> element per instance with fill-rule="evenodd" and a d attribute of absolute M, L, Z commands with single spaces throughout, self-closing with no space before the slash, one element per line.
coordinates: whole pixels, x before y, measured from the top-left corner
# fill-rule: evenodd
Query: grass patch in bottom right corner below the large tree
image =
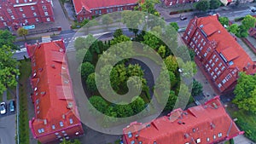
<path fill-rule="evenodd" d="M 240 130 L 245 131 L 247 138 L 256 141 L 256 115 L 235 108 L 227 107 L 232 118 L 237 118 L 236 124 Z"/>

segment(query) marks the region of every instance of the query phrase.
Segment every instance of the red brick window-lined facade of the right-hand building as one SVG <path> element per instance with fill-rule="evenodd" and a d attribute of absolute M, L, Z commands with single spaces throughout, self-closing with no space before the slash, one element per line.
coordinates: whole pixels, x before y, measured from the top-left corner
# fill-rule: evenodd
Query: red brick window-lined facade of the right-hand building
<path fill-rule="evenodd" d="M 196 21 L 191 20 L 183 34 L 183 41 L 195 51 L 195 61 L 201 68 L 207 80 L 218 94 L 224 94 L 232 89 L 237 79 L 238 69 L 231 69 L 224 59 L 217 53 L 217 43 L 209 41 L 195 26 Z"/>

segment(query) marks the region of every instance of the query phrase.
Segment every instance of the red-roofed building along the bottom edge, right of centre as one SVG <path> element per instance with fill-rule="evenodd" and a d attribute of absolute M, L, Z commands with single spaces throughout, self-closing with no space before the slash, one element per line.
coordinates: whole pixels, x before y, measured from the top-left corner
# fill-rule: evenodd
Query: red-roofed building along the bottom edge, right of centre
<path fill-rule="evenodd" d="M 132 123 L 123 132 L 125 144 L 213 144 L 244 133 L 225 112 L 219 96 L 149 123 Z"/>

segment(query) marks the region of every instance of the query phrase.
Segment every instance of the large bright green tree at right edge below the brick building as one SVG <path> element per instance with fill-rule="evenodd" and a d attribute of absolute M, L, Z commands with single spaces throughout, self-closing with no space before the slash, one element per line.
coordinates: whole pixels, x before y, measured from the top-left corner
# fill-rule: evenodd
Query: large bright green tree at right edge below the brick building
<path fill-rule="evenodd" d="M 233 103 L 241 110 L 256 114 L 256 76 L 239 73 Z"/>

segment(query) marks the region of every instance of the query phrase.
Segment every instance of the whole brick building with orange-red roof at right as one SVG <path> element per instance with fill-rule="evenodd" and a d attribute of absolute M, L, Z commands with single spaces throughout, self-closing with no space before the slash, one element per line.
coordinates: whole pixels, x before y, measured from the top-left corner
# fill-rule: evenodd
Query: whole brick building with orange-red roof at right
<path fill-rule="evenodd" d="M 238 72 L 256 73 L 256 62 L 218 22 L 218 15 L 190 20 L 183 41 L 195 51 L 195 62 L 218 94 L 236 86 Z"/>

